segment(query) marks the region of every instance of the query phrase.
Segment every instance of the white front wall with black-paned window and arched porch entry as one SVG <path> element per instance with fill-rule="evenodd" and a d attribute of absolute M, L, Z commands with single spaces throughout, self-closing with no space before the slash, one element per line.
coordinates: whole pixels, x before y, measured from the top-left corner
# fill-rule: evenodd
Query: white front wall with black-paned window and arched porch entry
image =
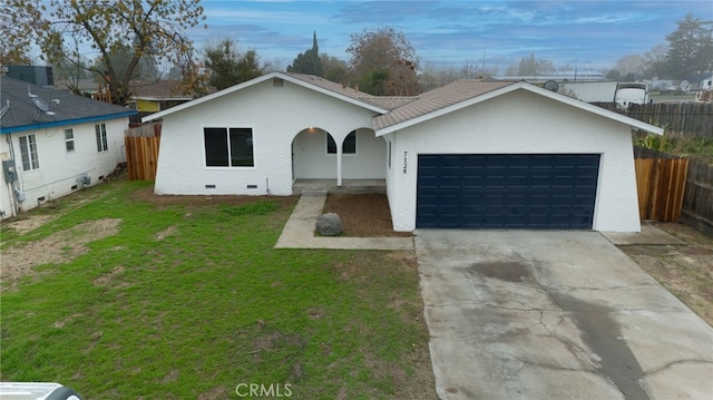
<path fill-rule="evenodd" d="M 326 145 L 323 137 L 318 137 L 321 135 L 312 137 L 305 133 L 300 134 L 301 131 L 310 127 L 320 128 L 329 131 L 336 143 L 342 143 L 350 131 L 371 126 L 374 111 L 287 80 L 282 82 L 282 86 L 275 86 L 273 80 L 268 79 L 166 115 L 163 123 L 155 193 L 292 195 L 293 149 L 295 164 L 312 162 L 311 157 L 325 158 Z M 204 127 L 252 128 L 255 166 L 206 167 Z M 293 148 L 293 138 L 297 134 L 300 136 Z M 302 147 L 306 153 L 297 154 Z M 325 167 L 335 169 L 335 162 L 332 165 Z M 313 169 L 311 165 L 295 165 L 295 175 L 300 177 L 304 174 L 307 175 L 305 177 L 315 177 L 309 176 Z M 330 177 L 336 176 L 330 170 L 325 170 L 324 174 Z M 206 185 L 214 187 L 206 187 Z M 256 187 L 248 188 L 248 185 Z"/>

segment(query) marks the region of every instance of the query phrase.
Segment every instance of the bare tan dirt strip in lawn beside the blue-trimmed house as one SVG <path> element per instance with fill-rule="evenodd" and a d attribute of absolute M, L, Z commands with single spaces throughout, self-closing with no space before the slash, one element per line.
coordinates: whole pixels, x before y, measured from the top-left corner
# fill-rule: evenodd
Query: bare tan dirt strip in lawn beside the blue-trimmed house
<path fill-rule="evenodd" d="M 89 252 L 87 243 L 119 233 L 120 222 L 117 218 L 87 221 L 42 240 L 4 248 L 2 280 L 14 282 L 30 274 L 37 265 L 67 263 Z"/>

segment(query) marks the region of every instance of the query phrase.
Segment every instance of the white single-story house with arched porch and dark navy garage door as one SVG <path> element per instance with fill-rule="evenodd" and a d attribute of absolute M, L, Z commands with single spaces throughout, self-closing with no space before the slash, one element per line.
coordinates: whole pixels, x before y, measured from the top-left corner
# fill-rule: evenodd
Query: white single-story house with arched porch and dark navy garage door
<path fill-rule="evenodd" d="M 641 230 L 632 128 L 663 129 L 527 82 L 411 98 L 272 72 L 163 118 L 155 193 L 291 195 L 300 179 L 385 179 L 395 231 Z"/>

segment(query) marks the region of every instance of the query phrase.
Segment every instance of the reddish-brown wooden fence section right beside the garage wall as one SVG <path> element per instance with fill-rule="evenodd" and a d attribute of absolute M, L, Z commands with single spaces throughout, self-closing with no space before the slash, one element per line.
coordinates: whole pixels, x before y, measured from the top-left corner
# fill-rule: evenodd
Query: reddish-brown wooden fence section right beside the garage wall
<path fill-rule="evenodd" d="M 686 188 L 685 158 L 636 158 L 638 214 L 642 219 L 678 222 Z"/>

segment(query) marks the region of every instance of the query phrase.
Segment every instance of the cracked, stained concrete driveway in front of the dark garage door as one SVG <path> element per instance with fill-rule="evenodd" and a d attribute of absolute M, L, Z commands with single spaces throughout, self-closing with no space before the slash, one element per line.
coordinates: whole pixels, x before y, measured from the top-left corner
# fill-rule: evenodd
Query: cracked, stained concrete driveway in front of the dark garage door
<path fill-rule="evenodd" d="M 711 399 L 713 329 L 596 232 L 416 232 L 441 399 Z"/>

